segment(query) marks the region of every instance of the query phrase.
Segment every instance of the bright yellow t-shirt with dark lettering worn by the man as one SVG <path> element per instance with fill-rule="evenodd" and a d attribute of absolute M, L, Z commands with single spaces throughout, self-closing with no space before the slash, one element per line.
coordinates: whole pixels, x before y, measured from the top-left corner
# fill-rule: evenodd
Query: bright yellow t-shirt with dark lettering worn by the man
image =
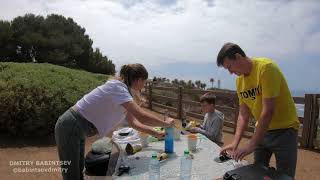
<path fill-rule="evenodd" d="M 287 82 L 279 67 L 267 58 L 252 58 L 253 68 L 248 76 L 237 78 L 237 95 L 239 104 L 245 103 L 254 118 L 259 123 L 262 112 L 263 98 L 276 98 L 268 130 L 273 129 L 298 129 L 296 107 L 289 91 Z"/>

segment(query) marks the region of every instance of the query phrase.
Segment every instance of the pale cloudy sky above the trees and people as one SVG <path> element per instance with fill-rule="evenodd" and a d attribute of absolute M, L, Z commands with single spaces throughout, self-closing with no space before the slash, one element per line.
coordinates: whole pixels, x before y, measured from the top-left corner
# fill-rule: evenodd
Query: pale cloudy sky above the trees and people
<path fill-rule="evenodd" d="M 151 78 L 207 87 L 214 78 L 235 89 L 236 76 L 216 65 L 233 42 L 249 57 L 273 59 L 291 90 L 320 92 L 318 0 L 1 0 L 0 19 L 26 13 L 73 18 L 117 71 L 142 63 Z"/>

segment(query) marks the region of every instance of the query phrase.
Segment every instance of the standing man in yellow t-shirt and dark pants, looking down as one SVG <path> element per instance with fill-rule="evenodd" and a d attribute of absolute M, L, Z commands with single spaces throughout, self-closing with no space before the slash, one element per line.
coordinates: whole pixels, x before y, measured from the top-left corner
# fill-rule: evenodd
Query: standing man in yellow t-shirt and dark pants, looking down
<path fill-rule="evenodd" d="M 217 65 L 238 76 L 236 85 L 240 106 L 235 138 L 221 149 L 221 153 L 227 152 L 238 161 L 254 151 L 255 163 L 267 167 L 274 153 L 277 170 L 294 177 L 300 123 L 279 67 L 268 58 L 247 57 L 233 43 L 226 43 L 221 48 Z M 239 148 L 250 115 L 256 119 L 255 132 L 248 144 Z"/>

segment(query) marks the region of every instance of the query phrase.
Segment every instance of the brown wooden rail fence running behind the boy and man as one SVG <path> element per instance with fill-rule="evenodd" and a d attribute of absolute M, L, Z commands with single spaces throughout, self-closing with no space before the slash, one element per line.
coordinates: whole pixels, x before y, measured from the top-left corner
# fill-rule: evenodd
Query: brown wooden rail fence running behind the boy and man
<path fill-rule="evenodd" d="M 163 92 L 163 93 L 157 93 Z M 204 115 L 200 111 L 186 110 L 185 107 L 200 107 L 199 101 L 187 100 L 185 97 L 192 95 L 202 95 L 206 92 L 213 92 L 216 97 L 216 109 L 228 115 L 224 121 L 226 131 L 235 133 L 237 117 L 238 117 L 238 97 L 235 91 L 222 90 L 200 90 L 200 89 L 183 89 L 182 87 L 163 87 L 155 86 L 148 83 L 145 91 L 142 94 L 148 99 L 148 108 L 163 113 L 164 110 L 169 110 L 171 116 L 182 119 L 185 113 L 186 116 L 202 120 Z M 171 96 L 169 94 L 172 94 Z M 189 98 L 190 99 L 190 98 Z M 224 104 L 226 99 L 230 102 Z M 306 149 L 316 149 L 317 142 L 320 142 L 320 94 L 305 94 L 304 97 L 293 97 L 296 104 L 304 105 L 304 116 L 299 117 L 299 145 Z M 221 100 L 221 101 L 219 101 Z M 165 105 L 166 102 L 169 105 Z M 251 125 L 246 129 L 244 136 L 250 137 L 254 131 L 254 126 Z M 318 133 L 319 132 L 319 133 Z M 318 135 L 318 138 L 317 138 Z M 319 148 L 319 147 L 318 147 Z"/>

